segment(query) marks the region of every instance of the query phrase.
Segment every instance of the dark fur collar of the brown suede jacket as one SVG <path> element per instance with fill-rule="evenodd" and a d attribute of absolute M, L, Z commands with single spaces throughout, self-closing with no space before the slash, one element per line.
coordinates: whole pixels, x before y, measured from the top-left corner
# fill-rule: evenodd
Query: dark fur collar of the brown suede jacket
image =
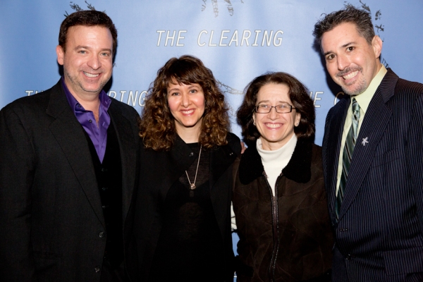
<path fill-rule="evenodd" d="M 307 183 L 311 176 L 312 164 L 312 141 L 306 138 L 298 138 L 297 145 L 290 161 L 283 168 L 281 175 L 298 183 Z M 262 158 L 257 152 L 255 144 L 248 147 L 240 161 L 240 181 L 248 184 L 264 173 Z"/>

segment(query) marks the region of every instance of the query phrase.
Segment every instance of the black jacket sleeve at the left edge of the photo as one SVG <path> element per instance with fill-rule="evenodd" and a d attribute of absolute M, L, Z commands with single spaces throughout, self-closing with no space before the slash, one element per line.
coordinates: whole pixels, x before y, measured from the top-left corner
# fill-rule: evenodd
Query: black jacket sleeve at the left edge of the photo
<path fill-rule="evenodd" d="M 35 281 L 30 244 L 35 154 L 22 121 L 6 108 L 0 111 L 0 281 Z"/>

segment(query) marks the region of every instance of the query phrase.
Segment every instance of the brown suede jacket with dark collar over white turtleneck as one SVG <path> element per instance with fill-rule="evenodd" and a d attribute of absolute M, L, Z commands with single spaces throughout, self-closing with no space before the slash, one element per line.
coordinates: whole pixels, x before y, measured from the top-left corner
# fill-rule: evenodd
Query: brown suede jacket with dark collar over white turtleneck
<path fill-rule="evenodd" d="M 321 147 L 298 139 L 275 196 L 255 144 L 234 166 L 238 281 L 330 281 L 333 233 Z"/>

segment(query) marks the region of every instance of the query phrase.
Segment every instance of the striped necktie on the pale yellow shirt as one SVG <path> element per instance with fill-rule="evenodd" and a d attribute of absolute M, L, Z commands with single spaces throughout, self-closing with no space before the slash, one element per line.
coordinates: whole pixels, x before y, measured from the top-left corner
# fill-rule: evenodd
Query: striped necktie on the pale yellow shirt
<path fill-rule="evenodd" d="M 341 204 L 345 192 L 345 186 L 347 185 L 348 171 L 350 171 L 351 158 L 353 157 L 355 142 L 357 141 L 358 134 L 358 122 L 360 121 L 360 105 L 353 98 L 353 123 L 351 124 L 350 130 L 348 131 L 347 138 L 345 139 L 345 146 L 343 149 L 342 157 L 342 173 L 341 181 L 339 183 L 338 195 L 336 195 L 336 218 L 338 219 L 339 212 L 341 210 Z"/>

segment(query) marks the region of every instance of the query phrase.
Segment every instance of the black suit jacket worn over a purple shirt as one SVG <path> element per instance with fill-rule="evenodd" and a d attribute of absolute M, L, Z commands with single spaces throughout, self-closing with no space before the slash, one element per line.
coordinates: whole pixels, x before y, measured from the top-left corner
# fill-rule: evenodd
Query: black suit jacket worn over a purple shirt
<path fill-rule="evenodd" d="M 137 112 L 112 99 L 124 238 L 137 175 Z M 83 128 L 59 81 L 0 112 L 0 280 L 99 281 L 106 236 Z"/>

